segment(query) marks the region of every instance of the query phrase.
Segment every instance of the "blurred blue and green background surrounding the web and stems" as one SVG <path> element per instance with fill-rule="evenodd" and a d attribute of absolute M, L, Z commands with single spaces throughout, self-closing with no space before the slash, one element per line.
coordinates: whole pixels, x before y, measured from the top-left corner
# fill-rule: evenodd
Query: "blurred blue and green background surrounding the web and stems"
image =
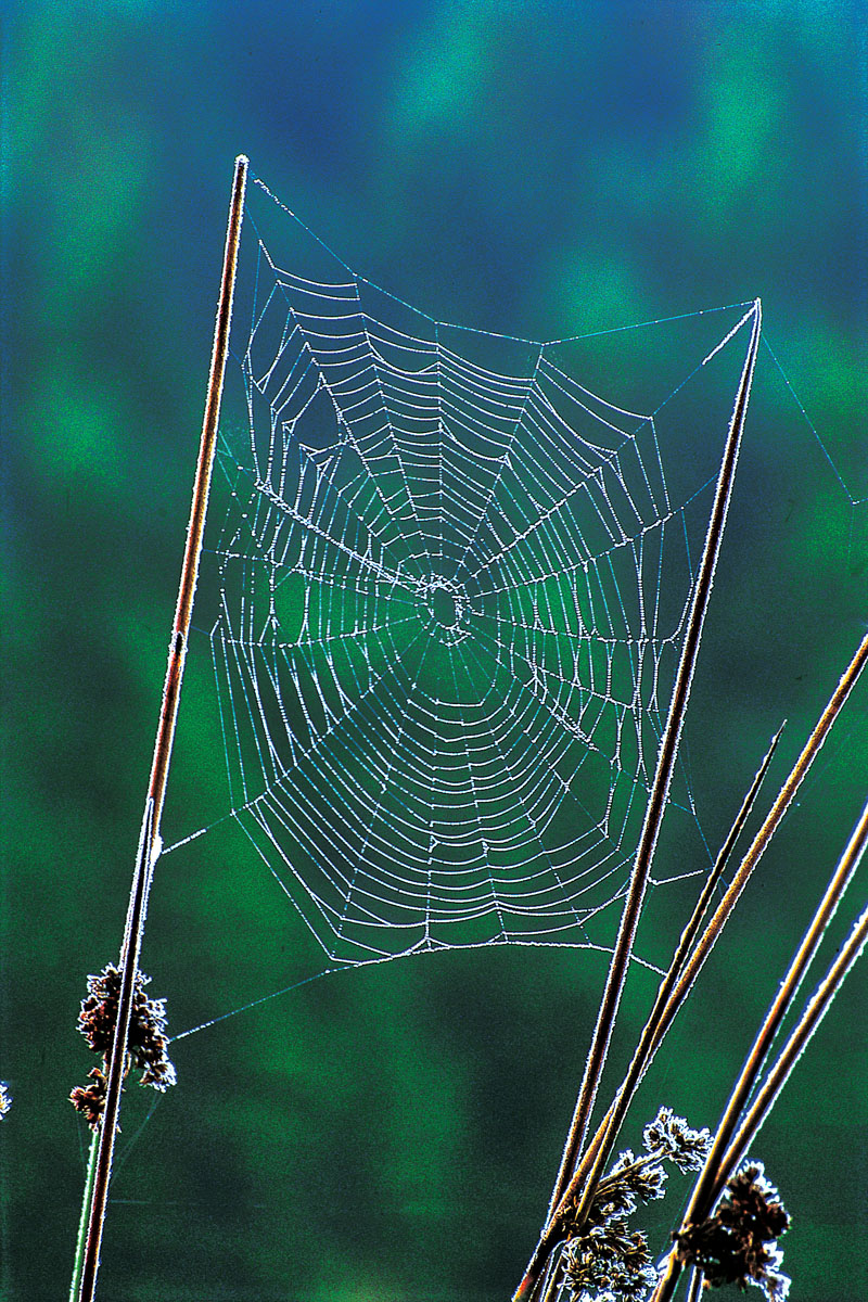
<path fill-rule="evenodd" d="M 66 1095 L 91 1066 L 74 1021 L 120 943 L 236 154 L 436 318 L 541 339 L 763 297 L 809 422 L 764 353 L 686 734 L 716 845 L 774 728 L 780 781 L 867 624 L 864 33 L 864 4 L 820 0 L 8 9 L 3 1298 L 68 1288 L 88 1135 Z M 210 669 L 189 672 L 168 838 L 221 812 Z M 634 1146 L 662 1101 L 714 1124 L 861 807 L 867 707 L 863 685 Z M 143 957 L 173 1030 L 323 966 L 230 825 L 193 852 L 157 868 Z M 653 897 L 649 957 L 686 901 Z M 128 1090 L 100 1295 L 508 1297 L 603 975 L 563 949 L 440 954 L 180 1040 L 176 1090 L 156 1108 Z M 799 1302 L 868 1294 L 864 990 L 856 969 L 756 1146 L 794 1215 Z M 631 978 L 617 1062 L 652 993 Z"/>

